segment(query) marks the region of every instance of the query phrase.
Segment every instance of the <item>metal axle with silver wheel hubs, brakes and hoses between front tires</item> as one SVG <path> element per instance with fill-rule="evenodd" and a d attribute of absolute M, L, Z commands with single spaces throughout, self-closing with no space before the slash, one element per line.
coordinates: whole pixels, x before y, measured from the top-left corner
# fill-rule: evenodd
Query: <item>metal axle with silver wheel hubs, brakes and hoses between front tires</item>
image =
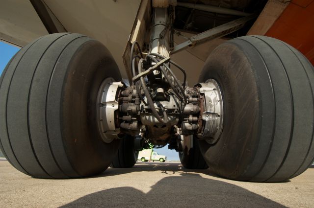
<path fill-rule="evenodd" d="M 218 84 L 212 79 L 194 87 L 176 82 L 170 59 L 153 57 L 151 54 L 140 59 L 139 73 L 133 78 L 137 81 L 131 86 L 110 78 L 102 84 L 98 123 L 104 141 L 127 134 L 140 140 L 137 149 L 169 143 L 178 151 L 180 142 L 174 141 L 180 141 L 181 135 L 197 135 L 209 143 L 217 141 L 223 122 Z"/>

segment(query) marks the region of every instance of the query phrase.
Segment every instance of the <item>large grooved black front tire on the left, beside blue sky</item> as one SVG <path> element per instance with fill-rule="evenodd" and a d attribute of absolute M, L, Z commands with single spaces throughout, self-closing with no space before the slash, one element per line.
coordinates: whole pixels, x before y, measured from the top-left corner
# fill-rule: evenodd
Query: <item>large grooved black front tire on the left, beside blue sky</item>
<path fill-rule="evenodd" d="M 100 42 L 56 33 L 23 47 L 0 80 L 0 148 L 21 172 L 77 178 L 103 172 L 119 140 L 98 135 L 96 97 L 106 77 L 121 80 Z"/>

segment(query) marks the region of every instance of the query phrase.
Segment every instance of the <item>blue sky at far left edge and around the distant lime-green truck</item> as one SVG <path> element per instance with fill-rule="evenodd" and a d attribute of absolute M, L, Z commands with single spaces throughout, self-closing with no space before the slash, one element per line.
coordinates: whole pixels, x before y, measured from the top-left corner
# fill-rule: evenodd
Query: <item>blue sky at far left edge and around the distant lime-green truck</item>
<path fill-rule="evenodd" d="M 6 64 L 10 61 L 12 56 L 18 51 L 19 51 L 18 47 L 0 42 L 0 73 L 2 73 Z M 155 151 L 158 152 L 160 155 L 167 156 L 168 160 L 179 161 L 178 153 L 175 150 L 169 150 L 168 145 L 161 149 L 155 149 Z"/>

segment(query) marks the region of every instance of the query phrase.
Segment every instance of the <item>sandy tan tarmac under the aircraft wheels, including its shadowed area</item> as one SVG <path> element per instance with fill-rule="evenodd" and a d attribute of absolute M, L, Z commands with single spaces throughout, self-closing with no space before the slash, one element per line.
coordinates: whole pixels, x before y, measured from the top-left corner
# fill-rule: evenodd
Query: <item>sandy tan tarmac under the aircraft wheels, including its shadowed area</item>
<path fill-rule="evenodd" d="M 285 183 L 231 181 L 176 162 L 138 162 L 91 178 L 44 180 L 0 160 L 0 207 L 314 208 L 314 166 Z"/>

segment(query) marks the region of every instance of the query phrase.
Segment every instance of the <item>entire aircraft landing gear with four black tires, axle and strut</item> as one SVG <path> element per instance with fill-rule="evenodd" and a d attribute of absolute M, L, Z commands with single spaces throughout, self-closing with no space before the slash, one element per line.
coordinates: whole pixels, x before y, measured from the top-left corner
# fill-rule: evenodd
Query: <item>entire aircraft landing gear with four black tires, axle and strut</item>
<path fill-rule="evenodd" d="M 167 24 L 155 24 L 149 48 L 131 45 L 130 85 L 106 47 L 84 35 L 23 47 L 0 79 L 7 160 L 36 178 L 78 178 L 132 167 L 138 151 L 168 144 L 185 168 L 228 179 L 281 182 L 304 172 L 314 160 L 311 63 L 282 41 L 243 36 L 216 47 L 188 85 L 169 56 L 170 10 L 154 8 L 152 24 L 160 12 Z"/>

